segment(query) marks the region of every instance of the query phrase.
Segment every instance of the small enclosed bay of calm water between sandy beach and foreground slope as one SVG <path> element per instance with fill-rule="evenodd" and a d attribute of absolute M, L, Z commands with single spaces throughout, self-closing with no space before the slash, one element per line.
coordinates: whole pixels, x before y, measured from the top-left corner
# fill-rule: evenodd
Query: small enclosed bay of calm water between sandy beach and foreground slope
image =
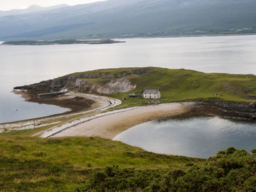
<path fill-rule="evenodd" d="M 255 126 L 212 117 L 157 120 L 129 128 L 114 140 L 154 153 L 208 158 L 230 146 L 256 148 Z"/>

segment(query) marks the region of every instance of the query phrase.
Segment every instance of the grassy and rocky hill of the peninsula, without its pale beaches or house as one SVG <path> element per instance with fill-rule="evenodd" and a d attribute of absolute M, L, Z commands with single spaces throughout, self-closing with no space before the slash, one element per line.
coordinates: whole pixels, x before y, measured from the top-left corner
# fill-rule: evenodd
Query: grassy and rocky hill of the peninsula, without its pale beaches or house
<path fill-rule="evenodd" d="M 225 109 L 218 110 L 218 114 L 222 117 L 230 116 L 244 120 L 252 120 L 256 117 L 256 76 L 253 74 L 203 73 L 157 67 L 98 69 L 67 74 L 54 80 L 18 86 L 14 89 L 25 90 L 28 101 L 56 104 L 73 108 L 78 112 L 81 110 L 80 102 L 78 102 L 79 107 L 74 107 L 74 103 L 71 107 L 68 101 L 65 103 L 58 99 L 55 101 L 54 98 L 57 97 L 54 94 L 53 97 L 42 98 L 38 95 L 60 91 L 104 95 L 122 100 L 118 109 L 123 109 L 148 105 L 148 99 L 140 97 L 145 88 L 159 89 L 162 98 L 158 100 L 162 104 L 197 101 Z M 138 97 L 129 98 L 129 94 L 132 93 L 137 94 Z M 230 109 L 230 113 L 226 112 L 226 108 Z"/>

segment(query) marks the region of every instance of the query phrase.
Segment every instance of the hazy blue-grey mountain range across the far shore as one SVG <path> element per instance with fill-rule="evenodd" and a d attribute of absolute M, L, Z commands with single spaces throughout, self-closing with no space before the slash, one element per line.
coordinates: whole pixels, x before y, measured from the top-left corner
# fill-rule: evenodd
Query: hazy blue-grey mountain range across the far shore
<path fill-rule="evenodd" d="M 0 39 L 256 33 L 255 0 L 108 0 L 0 12 Z"/>

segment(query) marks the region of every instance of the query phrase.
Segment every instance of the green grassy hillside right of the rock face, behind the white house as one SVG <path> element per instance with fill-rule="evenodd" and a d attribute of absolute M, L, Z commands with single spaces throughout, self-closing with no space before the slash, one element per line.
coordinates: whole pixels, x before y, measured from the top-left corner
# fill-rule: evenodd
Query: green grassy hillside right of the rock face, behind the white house
<path fill-rule="evenodd" d="M 256 76 L 251 74 L 206 74 L 185 69 L 157 68 L 130 80 L 138 86 L 136 91 L 159 88 L 162 98 L 169 101 L 199 98 L 249 101 L 244 99 L 246 90 L 252 90 L 249 95 L 256 96 Z"/>

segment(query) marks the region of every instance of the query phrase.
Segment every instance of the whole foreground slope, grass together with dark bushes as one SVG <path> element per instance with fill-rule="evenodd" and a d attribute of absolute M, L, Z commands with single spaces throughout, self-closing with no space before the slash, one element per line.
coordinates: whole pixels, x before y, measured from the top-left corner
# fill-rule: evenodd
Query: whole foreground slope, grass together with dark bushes
<path fill-rule="evenodd" d="M 255 191 L 255 151 L 202 160 L 92 137 L 0 136 L 0 191 Z"/>

